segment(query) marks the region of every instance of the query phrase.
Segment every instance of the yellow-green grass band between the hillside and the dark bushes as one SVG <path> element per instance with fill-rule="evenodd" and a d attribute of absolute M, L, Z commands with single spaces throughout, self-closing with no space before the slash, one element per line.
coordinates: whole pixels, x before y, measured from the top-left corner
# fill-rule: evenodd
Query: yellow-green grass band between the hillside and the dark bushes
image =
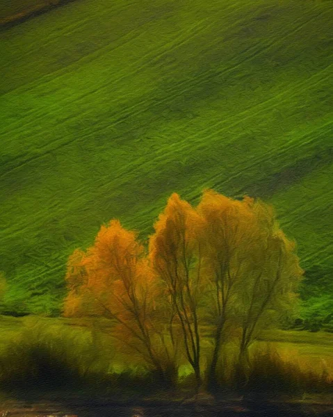
<path fill-rule="evenodd" d="M 95 329 L 95 330 L 94 330 Z M 23 338 L 22 338 L 23 337 Z M 31 339 L 31 340 L 30 340 Z M 0 317 L 0 357 L 6 354 L 8 345 L 14 342 L 35 343 L 40 341 L 56 341 L 63 349 L 68 349 L 74 361 L 81 357 L 82 368 L 96 370 L 105 376 L 108 373 L 120 373 L 142 365 L 140 357 L 124 355 L 124 350 L 115 345 L 111 336 L 110 322 L 100 319 L 66 319 L 42 318 L 27 316 L 25 318 Z M 207 343 L 208 345 L 208 343 Z M 116 347 L 117 346 L 117 347 Z M 207 352 L 203 343 L 203 354 Z M 333 340 L 332 335 L 325 332 L 295 332 L 269 330 L 263 332 L 262 338 L 255 341 L 250 354 L 258 352 L 277 352 L 284 363 L 298 366 L 304 372 L 312 371 L 315 375 L 326 375 L 333 380 Z M 230 358 L 228 366 L 235 359 L 234 347 L 227 347 Z M 24 354 L 24 350 L 22 350 Z M 74 356 L 73 356 L 74 355 Z M 81 361 L 81 362 L 80 362 Z M 229 371 L 228 371 L 229 372 Z M 191 373 L 190 367 L 183 363 L 179 375 Z"/>

